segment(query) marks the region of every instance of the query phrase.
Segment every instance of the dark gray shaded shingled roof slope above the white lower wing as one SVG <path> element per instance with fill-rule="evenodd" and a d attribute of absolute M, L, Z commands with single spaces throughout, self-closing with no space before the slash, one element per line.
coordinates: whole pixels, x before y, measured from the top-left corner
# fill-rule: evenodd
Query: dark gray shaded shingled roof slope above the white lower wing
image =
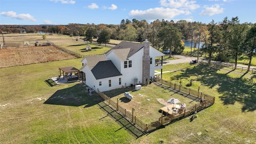
<path fill-rule="evenodd" d="M 111 60 L 98 62 L 98 64 L 96 64 L 91 71 L 96 80 L 114 76 L 122 76 Z"/>

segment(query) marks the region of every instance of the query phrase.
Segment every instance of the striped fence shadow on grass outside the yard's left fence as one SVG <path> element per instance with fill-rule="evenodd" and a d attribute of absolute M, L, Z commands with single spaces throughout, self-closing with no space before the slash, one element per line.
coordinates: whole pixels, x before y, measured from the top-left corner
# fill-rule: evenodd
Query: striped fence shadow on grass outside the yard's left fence
<path fill-rule="evenodd" d="M 121 126 L 121 128 L 119 128 L 118 130 L 124 128 L 124 130 L 126 130 L 134 138 L 139 138 L 140 136 L 143 136 L 145 134 L 143 130 L 140 130 L 137 126 L 135 126 L 134 123 L 127 120 L 122 114 L 118 113 L 116 110 L 114 110 L 112 107 L 108 106 L 104 102 L 98 103 L 98 106 L 101 110 L 108 113 L 107 116 L 110 116 L 110 118 L 115 120 Z M 116 132 L 118 132 L 118 130 L 116 130 Z"/>

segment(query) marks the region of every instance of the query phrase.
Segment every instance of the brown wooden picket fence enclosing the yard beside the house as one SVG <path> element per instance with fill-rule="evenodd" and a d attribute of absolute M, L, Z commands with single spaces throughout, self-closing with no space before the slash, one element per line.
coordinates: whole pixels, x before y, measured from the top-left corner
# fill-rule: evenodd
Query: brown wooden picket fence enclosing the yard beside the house
<path fill-rule="evenodd" d="M 182 110 L 180 112 L 168 114 L 166 116 L 164 116 L 164 114 L 162 112 L 162 116 L 156 122 L 151 122 L 150 124 L 147 124 L 147 123 L 142 122 L 140 119 L 138 119 L 133 114 L 134 108 L 132 108 L 132 113 L 128 112 L 125 108 L 122 108 L 122 106 L 118 105 L 118 99 L 117 99 L 117 102 L 114 102 L 112 99 L 110 99 L 110 97 L 106 96 L 104 93 L 100 92 L 99 90 L 98 90 L 98 94 L 105 100 L 104 102 L 109 104 L 109 106 L 111 106 L 112 108 L 117 110 L 117 112 L 119 114 L 122 114 L 124 116 L 124 118 L 126 118 L 127 120 L 130 120 L 138 128 L 140 128 L 141 130 L 143 130 L 145 132 L 155 130 L 164 124 L 168 124 L 168 123 L 173 122 L 174 120 L 177 120 L 179 118 L 184 118 L 188 115 L 194 114 L 194 112 L 200 111 L 204 108 L 207 108 L 207 107 L 211 106 L 212 104 L 214 104 L 214 102 L 215 102 L 214 96 L 211 96 L 209 94 L 204 94 L 203 92 L 200 92 L 199 90 L 193 90 L 190 88 L 186 88 L 184 86 L 176 85 L 176 84 L 173 84 L 172 82 L 168 82 L 168 81 L 162 80 L 162 79 L 159 79 L 156 81 L 158 83 L 164 84 L 166 86 L 170 86 L 170 88 L 174 88 L 174 90 L 179 90 L 183 93 L 187 93 L 190 96 L 194 96 L 197 98 L 204 98 L 204 100 L 202 102 L 200 102 L 200 104 L 195 104 L 194 106 L 185 108 L 184 110 Z"/>

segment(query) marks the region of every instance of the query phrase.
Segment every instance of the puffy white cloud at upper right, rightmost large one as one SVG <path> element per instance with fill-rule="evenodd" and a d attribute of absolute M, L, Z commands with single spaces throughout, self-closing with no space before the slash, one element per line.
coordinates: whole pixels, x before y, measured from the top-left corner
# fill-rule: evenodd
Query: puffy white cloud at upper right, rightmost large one
<path fill-rule="evenodd" d="M 211 7 L 204 6 L 204 10 L 199 14 L 200 16 L 213 16 L 224 12 L 224 8 L 220 8 L 219 4 L 214 4 Z"/>

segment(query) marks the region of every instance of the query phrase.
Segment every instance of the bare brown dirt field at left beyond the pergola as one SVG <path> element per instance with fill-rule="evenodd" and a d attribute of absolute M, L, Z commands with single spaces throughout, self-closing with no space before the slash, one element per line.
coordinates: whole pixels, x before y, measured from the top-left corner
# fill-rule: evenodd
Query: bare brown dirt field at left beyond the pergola
<path fill-rule="evenodd" d="M 21 66 L 56 60 L 76 58 L 54 46 L 35 46 L 29 48 L 7 48 L 0 50 L 0 68 Z"/>

